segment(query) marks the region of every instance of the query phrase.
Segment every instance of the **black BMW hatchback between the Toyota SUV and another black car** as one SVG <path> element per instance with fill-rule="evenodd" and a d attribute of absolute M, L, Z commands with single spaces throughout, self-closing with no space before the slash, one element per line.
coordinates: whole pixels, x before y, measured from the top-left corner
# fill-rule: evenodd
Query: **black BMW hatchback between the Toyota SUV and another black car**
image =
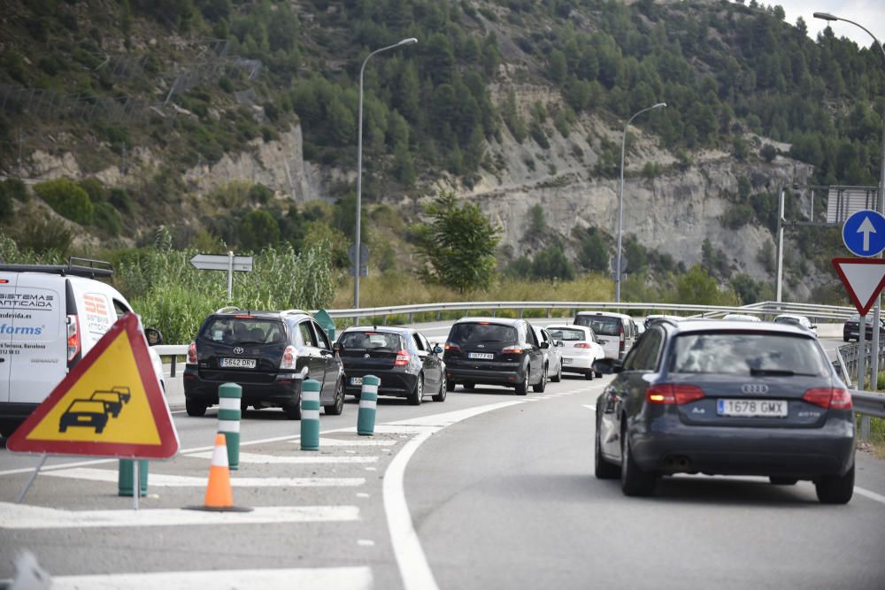
<path fill-rule="evenodd" d="M 412 328 L 357 326 L 335 341 L 344 365 L 344 392 L 359 399 L 363 377 L 381 379 L 378 395 L 404 397 L 419 405 L 425 395 L 435 402 L 446 396 L 443 349 Z"/>

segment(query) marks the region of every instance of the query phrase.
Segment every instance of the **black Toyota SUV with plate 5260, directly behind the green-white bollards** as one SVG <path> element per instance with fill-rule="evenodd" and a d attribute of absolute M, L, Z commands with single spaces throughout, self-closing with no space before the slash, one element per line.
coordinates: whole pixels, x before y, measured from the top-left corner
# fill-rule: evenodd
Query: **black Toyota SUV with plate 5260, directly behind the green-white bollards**
<path fill-rule="evenodd" d="M 301 383 L 322 383 L 327 414 L 344 407 L 344 372 L 327 334 L 307 312 L 225 308 L 200 326 L 188 349 L 184 396 L 189 416 L 219 402 L 219 385 L 242 387 L 242 410 L 279 407 L 301 419 Z"/>

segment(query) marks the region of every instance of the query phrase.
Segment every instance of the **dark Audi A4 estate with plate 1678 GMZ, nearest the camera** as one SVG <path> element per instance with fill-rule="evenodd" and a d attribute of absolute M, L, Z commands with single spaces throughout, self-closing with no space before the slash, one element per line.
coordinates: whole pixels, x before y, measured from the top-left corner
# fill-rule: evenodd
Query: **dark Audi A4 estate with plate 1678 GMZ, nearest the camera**
<path fill-rule="evenodd" d="M 761 475 L 814 482 L 818 499 L 854 489 L 851 395 L 820 342 L 781 324 L 658 321 L 596 401 L 596 477 L 627 495 L 661 475 Z"/>

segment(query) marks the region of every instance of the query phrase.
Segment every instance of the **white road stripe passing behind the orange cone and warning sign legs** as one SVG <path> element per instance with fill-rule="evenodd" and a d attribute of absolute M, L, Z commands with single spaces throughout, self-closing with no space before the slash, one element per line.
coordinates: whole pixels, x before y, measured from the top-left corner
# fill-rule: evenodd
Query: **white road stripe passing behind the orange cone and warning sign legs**
<path fill-rule="evenodd" d="M 117 481 L 119 474 L 110 469 L 75 467 L 64 471 L 41 472 L 52 478 L 89 479 L 90 481 Z M 158 487 L 206 487 L 208 477 L 190 475 L 165 475 L 150 473 L 149 486 Z M 239 478 L 233 475 L 231 487 L 358 487 L 366 483 L 364 478 Z"/>

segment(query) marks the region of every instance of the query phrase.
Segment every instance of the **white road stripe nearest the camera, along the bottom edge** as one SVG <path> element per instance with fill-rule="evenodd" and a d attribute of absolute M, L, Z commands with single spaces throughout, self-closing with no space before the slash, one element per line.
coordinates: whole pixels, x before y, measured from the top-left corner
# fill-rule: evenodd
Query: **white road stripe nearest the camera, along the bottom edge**
<path fill-rule="evenodd" d="M 158 571 L 98 576 L 53 576 L 53 590 L 185 590 L 186 588 L 264 588 L 289 590 L 371 590 L 372 569 L 361 567 L 289 569 L 289 570 L 222 570 L 222 571 Z"/>

